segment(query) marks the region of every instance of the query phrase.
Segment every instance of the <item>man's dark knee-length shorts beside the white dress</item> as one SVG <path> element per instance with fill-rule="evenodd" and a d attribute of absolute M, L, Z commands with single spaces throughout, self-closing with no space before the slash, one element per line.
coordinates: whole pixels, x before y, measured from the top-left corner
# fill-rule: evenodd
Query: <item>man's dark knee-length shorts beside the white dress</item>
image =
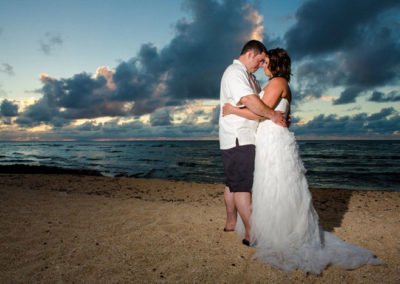
<path fill-rule="evenodd" d="M 255 145 L 221 150 L 225 184 L 231 192 L 251 192 L 253 187 Z"/>

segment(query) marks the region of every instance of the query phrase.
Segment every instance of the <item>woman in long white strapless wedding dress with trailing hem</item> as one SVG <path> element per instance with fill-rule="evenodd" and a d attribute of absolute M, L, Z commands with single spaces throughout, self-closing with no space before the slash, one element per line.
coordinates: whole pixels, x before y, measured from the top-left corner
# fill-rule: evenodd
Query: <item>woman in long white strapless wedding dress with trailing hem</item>
<path fill-rule="evenodd" d="M 287 116 L 292 100 L 287 52 L 280 48 L 268 51 L 264 72 L 270 82 L 260 93 L 262 101 Z M 223 115 L 262 119 L 249 109 L 230 104 L 223 107 Z M 355 269 L 363 264 L 382 264 L 372 252 L 319 227 L 305 172 L 294 134 L 270 120 L 261 120 L 256 135 L 250 231 L 256 257 L 287 271 L 301 269 L 314 274 L 328 265 Z M 244 236 L 240 217 L 236 232 Z"/>

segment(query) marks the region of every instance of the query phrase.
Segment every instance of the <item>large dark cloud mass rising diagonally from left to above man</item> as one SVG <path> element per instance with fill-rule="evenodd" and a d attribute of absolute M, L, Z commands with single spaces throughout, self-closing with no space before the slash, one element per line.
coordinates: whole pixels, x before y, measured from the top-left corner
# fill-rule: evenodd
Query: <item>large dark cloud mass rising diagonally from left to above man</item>
<path fill-rule="evenodd" d="M 43 97 L 17 122 L 63 125 L 77 118 L 137 117 L 164 106 L 184 105 L 190 99 L 217 99 L 224 69 L 257 27 L 247 17 L 252 8 L 244 0 L 188 0 L 184 7 L 192 17 L 176 23 L 176 34 L 165 47 L 158 50 L 143 44 L 135 57 L 121 62 L 107 79 L 82 73 L 42 80 Z M 43 43 L 43 51 L 49 53 L 62 39 L 46 34 Z M 127 108 L 126 103 L 132 105 Z"/>

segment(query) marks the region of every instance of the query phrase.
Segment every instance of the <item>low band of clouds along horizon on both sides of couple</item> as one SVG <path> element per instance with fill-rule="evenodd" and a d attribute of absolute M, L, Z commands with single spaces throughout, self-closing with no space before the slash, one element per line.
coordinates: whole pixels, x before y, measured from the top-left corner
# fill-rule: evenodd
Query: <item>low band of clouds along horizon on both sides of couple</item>
<path fill-rule="evenodd" d="M 215 114 L 219 107 L 214 108 Z M 81 125 L 67 125 L 52 131 L 35 133 L 41 139 L 127 139 L 127 138 L 185 138 L 218 137 L 217 121 L 196 124 L 151 125 L 139 120 L 122 122 L 114 119 L 104 123 L 93 121 Z M 298 117 L 292 117 L 291 131 L 301 138 L 396 138 L 399 133 L 400 115 L 394 108 L 383 108 L 373 114 L 358 113 L 352 116 L 318 115 L 304 123 Z M 29 133 L 2 131 L 2 136 L 26 138 Z"/>

